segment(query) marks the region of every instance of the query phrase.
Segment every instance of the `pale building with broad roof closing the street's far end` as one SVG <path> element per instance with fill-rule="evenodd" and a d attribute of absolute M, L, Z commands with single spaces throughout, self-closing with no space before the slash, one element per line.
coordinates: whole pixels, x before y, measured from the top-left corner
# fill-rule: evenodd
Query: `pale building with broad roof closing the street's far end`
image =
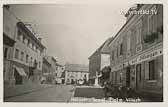
<path fill-rule="evenodd" d="M 82 84 L 88 82 L 88 66 L 80 64 L 65 64 L 65 83 Z"/>

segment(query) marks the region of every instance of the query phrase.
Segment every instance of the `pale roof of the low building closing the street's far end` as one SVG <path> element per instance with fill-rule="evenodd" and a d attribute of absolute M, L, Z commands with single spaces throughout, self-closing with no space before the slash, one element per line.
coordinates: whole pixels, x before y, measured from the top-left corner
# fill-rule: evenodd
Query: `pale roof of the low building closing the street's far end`
<path fill-rule="evenodd" d="M 81 64 L 65 64 L 65 70 L 89 72 L 89 67 L 87 65 L 81 65 Z"/>

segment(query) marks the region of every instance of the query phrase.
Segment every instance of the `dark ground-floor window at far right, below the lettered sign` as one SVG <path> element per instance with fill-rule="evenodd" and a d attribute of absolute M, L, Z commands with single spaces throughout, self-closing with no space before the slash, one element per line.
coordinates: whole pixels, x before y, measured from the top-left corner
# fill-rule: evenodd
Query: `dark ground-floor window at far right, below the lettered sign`
<path fill-rule="evenodd" d="M 149 62 L 149 80 L 155 80 L 155 61 Z"/>

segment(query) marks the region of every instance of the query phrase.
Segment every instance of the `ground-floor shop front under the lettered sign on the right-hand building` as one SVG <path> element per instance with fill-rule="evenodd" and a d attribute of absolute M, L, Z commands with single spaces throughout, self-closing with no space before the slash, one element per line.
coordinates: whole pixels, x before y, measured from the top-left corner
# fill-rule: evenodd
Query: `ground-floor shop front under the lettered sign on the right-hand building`
<path fill-rule="evenodd" d="M 142 53 L 112 69 L 112 84 L 131 87 L 138 92 L 163 95 L 162 48 Z"/>

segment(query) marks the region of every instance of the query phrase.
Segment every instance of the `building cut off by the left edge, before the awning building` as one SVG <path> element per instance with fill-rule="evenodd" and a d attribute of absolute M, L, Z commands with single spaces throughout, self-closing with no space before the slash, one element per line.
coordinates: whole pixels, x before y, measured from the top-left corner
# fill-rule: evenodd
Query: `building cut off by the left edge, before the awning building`
<path fill-rule="evenodd" d="M 4 54 L 4 85 L 12 85 L 15 83 L 12 71 L 12 59 L 14 43 L 15 24 L 17 20 L 9 12 L 10 6 L 3 7 L 3 54 Z"/>

